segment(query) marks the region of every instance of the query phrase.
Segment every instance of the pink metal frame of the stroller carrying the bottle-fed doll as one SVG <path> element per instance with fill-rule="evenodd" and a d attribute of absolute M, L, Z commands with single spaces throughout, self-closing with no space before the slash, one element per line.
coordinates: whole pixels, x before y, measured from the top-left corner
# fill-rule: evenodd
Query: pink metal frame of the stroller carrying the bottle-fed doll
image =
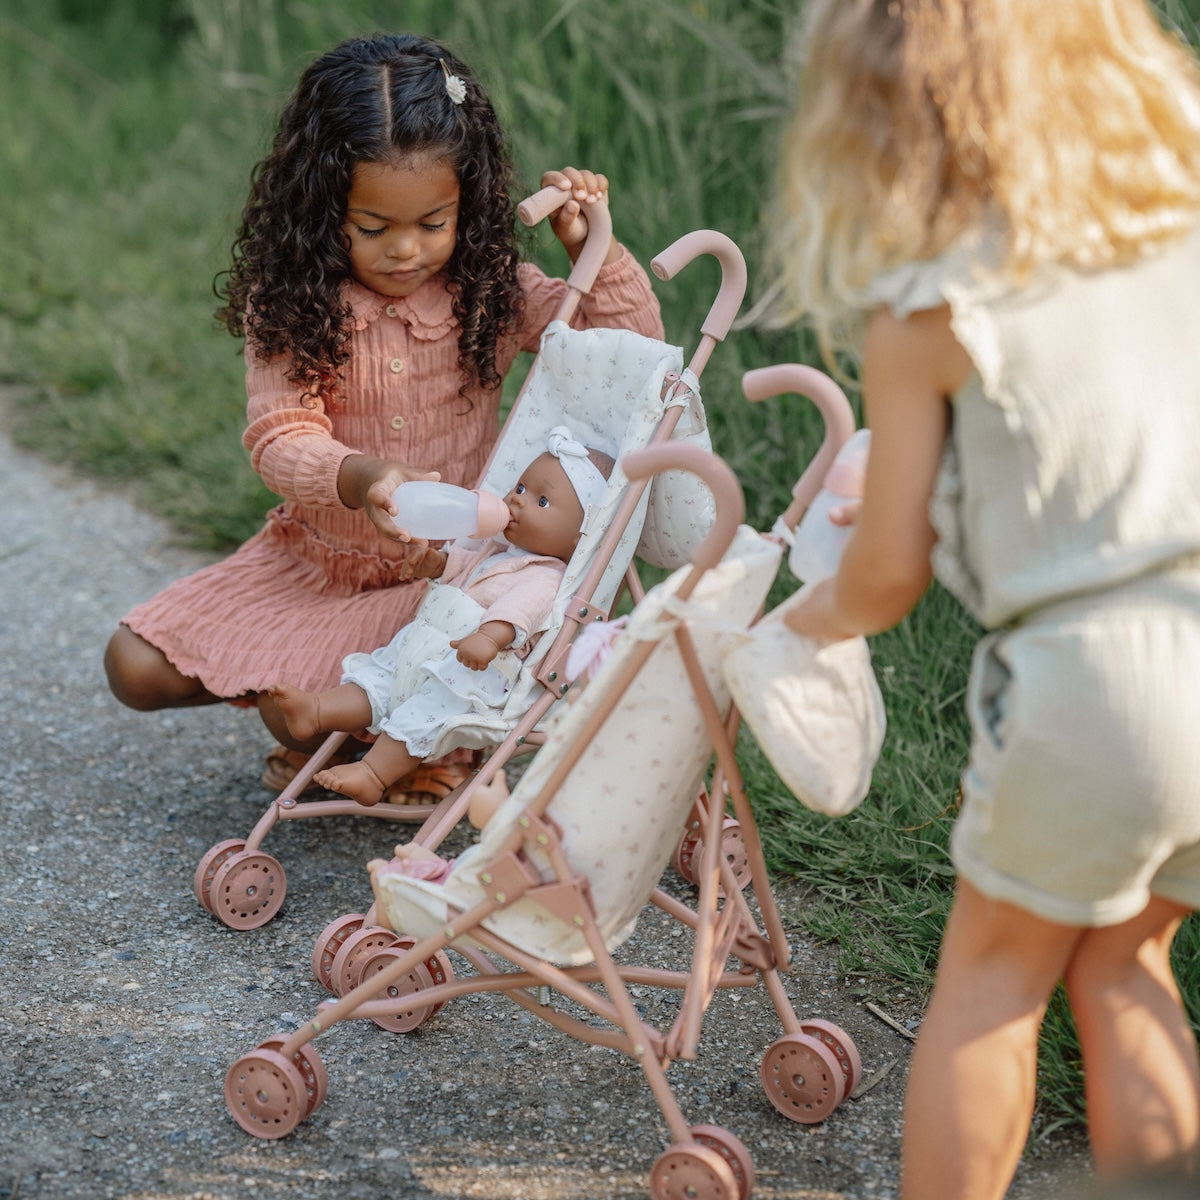
<path fill-rule="evenodd" d="M 517 211 L 526 223 L 534 224 L 554 211 L 563 203 L 564 196 L 559 188 L 545 188 L 527 199 Z M 556 325 L 562 323 L 565 326 L 575 313 L 580 299 L 590 289 L 610 244 L 611 218 L 607 208 L 598 205 L 590 212 L 589 221 L 588 240 L 566 281 L 568 292 L 556 317 Z M 689 404 L 698 408 L 698 376 L 715 344 L 728 332 L 745 293 L 745 263 L 740 252 L 730 239 L 710 230 L 698 230 L 680 238 L 654 259 L 652 270 L 659 278 L 670 280 L 702 253 L 710 253 L 718 258 L 721 265 L 721 284 L 701 326 L 700 343 L 686 368 L 682 368 L 680 359 L 678 368 L 665 372 L 656 401 L 659 407 L 653 415 L 654 424 L 646 430 L 641 445 L 653 445 L 672 438 Z M 552 325 L 551 330 L 556 325 Z M 547 330 L 547 336 L 551 330 Z M 618 330 L 588 332 L 614 336 L 622 334 Z M 577 337 L 583 336 L 577 331 L 566 331 L 568 336 L 572 334 Z M 650 343 L 634 334 L 623 336 L 626 341 L 644 343 L 652 348 L 660 344 Z M 545 348 L 547 344 L 545 340 L 542 344 Z M 680 353 L 673 347 L 661 346 L 661 349 L 667 354 Z M 539 360 L 542 356 L 539 354 Z M 485 468 L 485 480 L 499 448 L 505 444 L 505 436 L 514 428 L 515 422 L 521 420 L 522 402 L 539 365 L 540 362 L 534 364 L 534 371 L 530 371 L 530 378 L 527 379 L 521 396 L 505 421 L 497 448 L 492 452 L 488 467 Z M 619 488 L 620 481 L 613 486 Z M 287 893 L 287 876 L 280 862 L 262 846 L 268 834 L 282 821 L 358 816 L 424 822 L 413 840 L 430 848 L 440 845 L 446 834 L 462 820 L 474 790 L 486 786 L 512 755 L 527 751 L 539 743 L 540 734 L 536 732 L 539 722 L 568 690 L 563 666 L 578 629 L 583 624 L 604 620 L 610 616 L 616 600 L 616 589 L 623 577 L 634 595 L 641 595 L 636 572 L 629 566 L 632 550 L 629 530 L 644 520 L 648 486 L 647 480 L 630 481 L 623 493 L 617 492 L 618 498 L 613 502 L 611 520 L 599 544 L 593 542 L 586 569 L 582 574 L 577 571 L 572 577 L 569 568 L 564 580 L 566 590 L 560 590 L 559 605 L 556 607 L 559 619 L 557 631 L 551 629 L 544 636 L 542 644 L 522 671 L 522 677 L 526 678 L 528 686 L 536 691 L 536 696 L 528 710 L 515 720 L 503 740 L 497 738 L 488 743 L 494 745 L 496 740 L 499 740 L 480 772 L 438 804 L 383 803 L 368 809 L 348 798 L 301 800 L 301 794 L 310 787 L 312 778 L 347 739 L 344 733 L 330 734 L 292 782 L 275 798 L 248 836 L 220 841 L 204 853 L 193 877 L 193 890 L 200 905 L 227 926 L 239 930 L 259 928 L 278 913 Z M 636 541 L 636 538 L 634 540 Z M 580 560 L 582 550 L 581 545 L 581 551 L 572 558 L 572 566 Z M 660 565 L 678 565 L 678 563 Z M 353 931 L 342 929 L 341 936 Z"/>

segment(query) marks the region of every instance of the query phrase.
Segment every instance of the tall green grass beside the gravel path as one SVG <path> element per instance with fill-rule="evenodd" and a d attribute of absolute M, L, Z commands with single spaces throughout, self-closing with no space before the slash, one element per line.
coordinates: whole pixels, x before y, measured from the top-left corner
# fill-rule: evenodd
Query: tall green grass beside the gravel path
<path fill-rule="evenodd" d="M 1200 0 L 1160 7 L 1200 41 Z M 643 263 L 690 229 L 715 228 L 743 247 L 752 283 L 793 8 L 408 0 L 402 12 L 480 74 L 528 190 L 550 167 L 604 170 L 614 227 Z M 397 11 L 383 0 L 0 0 L 0 385 L 22 444 L 132 487 L 194 545 L 228 548 L 258 527 L 274 499 L 240 445 L 241 361 L 214 320 L 212 280 L 301 67 L 348 35 L 395 28 Z M 532 252 L 562 274 L 552 240 L 539 236 Z M 702 260 L 656 284 L 668 337 L 689 350 L 716 281 Z M 785 506 L 820 439 L 804 402 L 740 398 L 742 372 L 776 361 L 815 361 L 810 341 L 739 330 L 704 373 L 714 445 L 757 528 Z M 781 577 L 773 601 L 788 589 Z M 773 869 L 811 887 L 809 931 L 835 942 L 841 966 L 881 997 L 894 985 L 924 995 L 936 960 L 977 632 L 935 588 L 875 640 L 888 737 L 870 797 L 840 821 L 797 805 L 742 739 Z M 1194 922 L 1176 958 L 1200 1022 Z M 1048 1128 L 1081 1108 L 1061 1001 L 1043 1049 Z"/>

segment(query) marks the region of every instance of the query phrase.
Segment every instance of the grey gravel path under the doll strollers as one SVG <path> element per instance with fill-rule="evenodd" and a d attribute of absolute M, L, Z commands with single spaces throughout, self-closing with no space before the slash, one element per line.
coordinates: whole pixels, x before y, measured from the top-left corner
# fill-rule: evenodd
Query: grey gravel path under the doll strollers
<path fill-rule="evenodd" d="M 126 608 L 204 559 L 4 437 L 0 479 L 0 1200 L 644 1198 L 666 1130 L 641 1073 L 499 998 L 455 1001 L 409 1036 L 340 1025 L 316 1043 L 330 1090 L 307 1122 L 280 1141 L 235 1126 L 227 1067 L 324 998 L 313 940 L 368 902 L 364 863 L 397 828 L 281 826 L 265 847 L 288 875 L 280 916 L 234 932 L 202 910 L 200 856 L 245 838 L 270 799 L 269 740 L 224 706 L 124 710 L 100 658 Z M 779 901 L 797 929 L 803 894 Z M 670 956 L 677 932 L 650 914 L 630 954 Z M 828 949 L 797 937 L 794 959 L 797 1012 L 851 1033 L 864 1094 L 816 1127 L 776 1114 L 758 1082 L 780 1032 L 761 989 L 719 996 L 700 1058 L 670 1078 L 689 1120 L 749 1147 L 756 1200 L 887 1200 L 911 1042 Z M 899 1001 L 888 1015 L 919 1020 Z M 1074 1194 L 1084 1163 L 1078 1138 L 1051 1141 L 1009 1194 Z"/>

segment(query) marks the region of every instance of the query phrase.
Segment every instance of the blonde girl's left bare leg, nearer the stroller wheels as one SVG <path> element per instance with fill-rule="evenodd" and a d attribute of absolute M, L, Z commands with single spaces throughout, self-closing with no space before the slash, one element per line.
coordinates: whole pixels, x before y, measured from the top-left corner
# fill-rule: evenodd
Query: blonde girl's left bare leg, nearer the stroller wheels
<path fill-rule="evenodd" d="M 1079 936 L 959 882 L 908 1075 L 905 1200 L 1004 1195 L 1033 1114 L 1038 1030 Z"/>

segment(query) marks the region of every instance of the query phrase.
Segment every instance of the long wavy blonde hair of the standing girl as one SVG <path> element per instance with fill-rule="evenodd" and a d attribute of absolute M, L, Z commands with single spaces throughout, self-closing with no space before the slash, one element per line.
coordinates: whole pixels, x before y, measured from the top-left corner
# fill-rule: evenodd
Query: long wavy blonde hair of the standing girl
<path fill-rule="evenodd" d="M 812 0 L 766 324 L 853 352 L 880 272 L 976 229 L 1004 269 L 1127 262 L 1200 210 L 1200 72 L 1145 0 Z"/>

